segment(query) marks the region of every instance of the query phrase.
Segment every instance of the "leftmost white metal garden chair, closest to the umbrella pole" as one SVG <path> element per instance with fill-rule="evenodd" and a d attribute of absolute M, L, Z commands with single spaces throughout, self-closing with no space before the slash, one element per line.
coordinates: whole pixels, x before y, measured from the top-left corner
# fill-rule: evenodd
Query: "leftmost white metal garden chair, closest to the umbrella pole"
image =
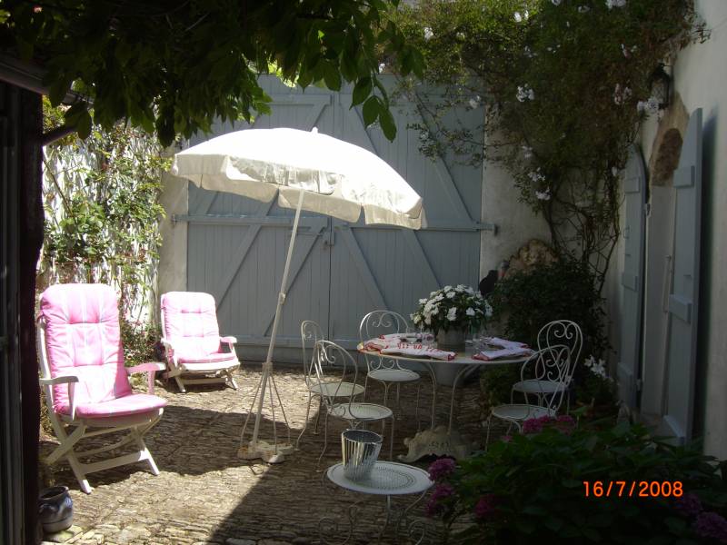
<path fill-rule="evenodd" d="M 298 441 L 295 446 L 299 446 L 301 438 L 308 427 L 308 416 L 311 414 L 311 403 L 317 398 L 318 413 L 315 415 L 314 431 L 318 431 L 318 421 L 321 417 L 323 409 L 324 395 L 337 395 L 340 398 L 348 398 L 351 395 L 359 395 L 364 392 L 364 386 L 354 384 L 353 382 L 339 383 L 338 378 L 333 376 L 324 376 L 323 381 L 319 380 L 314 366 L 314 346 L 318 341 L 324 341 L 324 332 L 321 326 L 312 320 L 304 320 L 301 322 L 301 350 L 303 352 L 303 372 L 305 377 L 305 387 L 308 389 L 308 408 L 305 410 L 305 421 L 303 430 L 298 435 Z M 311 352 L 306 350 L 310 347 Z M 323 372 L 327 370 L 323 369 Z"/>

